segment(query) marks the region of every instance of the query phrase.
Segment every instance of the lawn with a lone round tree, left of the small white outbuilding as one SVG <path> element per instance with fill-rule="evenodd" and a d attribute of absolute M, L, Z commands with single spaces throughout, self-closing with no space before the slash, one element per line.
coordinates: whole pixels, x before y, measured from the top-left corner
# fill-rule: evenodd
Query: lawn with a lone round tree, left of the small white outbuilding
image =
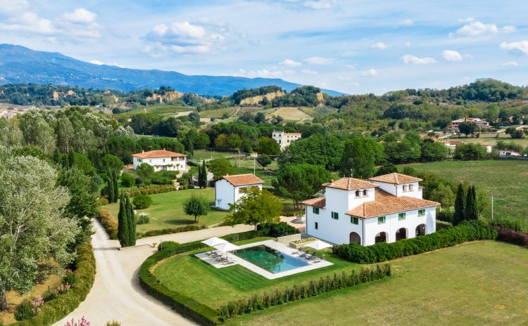
<path fill-rule="evenodd" d="M 215 189 L 189 189 L 177 190 L 170 193 L 161 193 L 150 195 L 153 200 L 151 207 L 147 209 L 139 209 L 137 213 L 142 211 L 148 212 L 151 218 L 150 223 L 140 224 L 137 226 L 137 232 L 145 232 L 148 230 L 160 230 L 163 228 L 177 228 L 178 226 L 187 226 L 194 223 L 194 216 L 188 216 L 183 211 L 183 203 L 191 195 L 203 196 L 211 204 L 215 202 Z M 103 207 L 110 211 L 115 219 L 117 219 L 119 212 L 119 203 L 109 204 Z M 207 216 L 201 216 L 199 223 L 205 225 L 212 225 L 224 221 L 227 212 L 217 209 L 211 209 Z"/>

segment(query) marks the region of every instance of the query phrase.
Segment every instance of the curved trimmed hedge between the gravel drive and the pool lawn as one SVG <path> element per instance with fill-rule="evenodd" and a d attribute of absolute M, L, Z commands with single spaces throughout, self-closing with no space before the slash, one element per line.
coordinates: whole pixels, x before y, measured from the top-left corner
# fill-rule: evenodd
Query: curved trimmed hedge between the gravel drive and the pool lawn
<path fill-rule="evenodd" d="M 175 254 L 181 254 L 182 252 L 205 248 L 207 247 L 206 244 L 190 242 L 180 246 L 172 242 L 167 247 L 167 242 L 162 242 L 162 245 L 167 249 L 161 249 L 161 251 L 156 252 L 156 254 L 153 254 L 142 263 L 139 269 L 139 284 L 151 296 L 171 306 L 178 313 L 199 322 L 201 325 L 220 324 L 218 313 L 213 308 L 200 304 L 196 300 L 189 298 L 189 296 L 172 291 L 168 287 L 165 287 L 165 285 L 159 284 L 156 277 L 151 273 L 151 267 L 158 263 L 158 261 L 162 261 Z"/>

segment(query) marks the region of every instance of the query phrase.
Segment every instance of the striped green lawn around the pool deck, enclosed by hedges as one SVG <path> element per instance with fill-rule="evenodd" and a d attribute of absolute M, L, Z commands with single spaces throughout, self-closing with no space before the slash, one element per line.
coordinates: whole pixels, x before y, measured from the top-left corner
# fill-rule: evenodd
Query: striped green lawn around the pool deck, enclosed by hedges
<path fill-rule="evenodd" d="M 256 241 L 260 240 L 263 239 Z M 245 298 L 253 293 L 270 292 L 275 288 L 282 289 L 287 286 L 301 285 L 302 282 L 319 280 L 321 276 L 326 277 L 326 275 L 332 276 L 334 273 L 341 273 L 341 270 L 350 273 L 353 269 L 360 268 L 356 263 L 350 263 L 327 254 L 327 259 L 334 263 L 333 266 L 310 270 L 277 280 L 268 280 L 238 265 L 215 268 L 196 258 L 194 253 L 196 252 L 166 259 L 157 265 L 154 275 L 170 289 L 176 289 L 178 292 L 191 296 L 212 308 L 219 308 L 227 301 Z"/>

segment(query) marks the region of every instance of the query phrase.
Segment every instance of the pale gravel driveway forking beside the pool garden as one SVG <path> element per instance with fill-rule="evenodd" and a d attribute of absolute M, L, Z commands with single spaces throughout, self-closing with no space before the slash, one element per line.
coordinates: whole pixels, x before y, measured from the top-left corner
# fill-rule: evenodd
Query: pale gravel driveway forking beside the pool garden
<path fill-rule="evenodd" d="M 139 266 L 156 252 L 150 246 L 140 246 L 118 250 L 117 240 L 109 240 L 105 230 L 94 220 L 96 233 L 92 236 L 92 245 L 96 259 L 94 286 L 80 306 L 68 317 L 56 322 L 63 326 L 66 320 L 79 320 L 83 315 L 94 326 L 103 326 L 107 321 L 117 320 L 123 326 L 134 325 L 196 325 L 168 306 L 146 294 L 139 285 Z M 137 240 L 137 244 L 151 244 L 165 240 L 180 243 L 206 239 L 208 237 L 228 235 L 253 230 L 252 226 L 222 226 L 185 233 L 175 233 Z"/>

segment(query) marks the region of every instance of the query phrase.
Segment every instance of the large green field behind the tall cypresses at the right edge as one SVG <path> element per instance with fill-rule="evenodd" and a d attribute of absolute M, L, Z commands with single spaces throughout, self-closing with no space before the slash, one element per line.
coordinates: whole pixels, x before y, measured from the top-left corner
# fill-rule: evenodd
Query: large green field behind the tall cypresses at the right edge
<path fill-rule="evenodd" d="M 448 161 L 406 166 L 455 182 L 469 181 L 494 195 L 494 214 L 528 221 L 528 160 Z M 403 167 L 400 165 L 398 169 Z M 491 216 L 491 209 L 486 209 L 484 215 Z"/>

